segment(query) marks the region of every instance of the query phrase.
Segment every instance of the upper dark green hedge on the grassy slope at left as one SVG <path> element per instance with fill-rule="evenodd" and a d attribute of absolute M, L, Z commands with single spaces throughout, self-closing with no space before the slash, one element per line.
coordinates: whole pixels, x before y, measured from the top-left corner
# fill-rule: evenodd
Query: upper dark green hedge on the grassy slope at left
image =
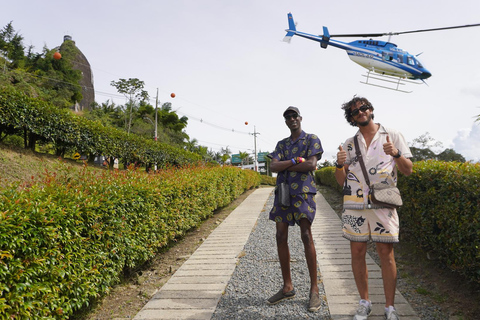
<path fill-rule="evenodd" d="M 51 143 L 57 154 L 65 151 L 92 156 L 104 155 L 123 163 L 157 163 L 157 167 L 198 162 L 198 154 L 168 144 L 127 134 L 99 122 L 58 109 L 45 101 L 31 98 L 10 87 L 0 87 L 0 134 L 28 136 L 35 141 Z"/>

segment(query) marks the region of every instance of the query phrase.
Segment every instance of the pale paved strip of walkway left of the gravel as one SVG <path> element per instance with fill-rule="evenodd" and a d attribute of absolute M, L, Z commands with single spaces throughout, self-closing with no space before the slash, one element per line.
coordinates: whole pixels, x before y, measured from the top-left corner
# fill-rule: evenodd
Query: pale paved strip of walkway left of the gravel
<path fill-rule="evenodd" d="M 255 190 L 232 211 L 134 319 L 210 319 L 272 190 Z"/>

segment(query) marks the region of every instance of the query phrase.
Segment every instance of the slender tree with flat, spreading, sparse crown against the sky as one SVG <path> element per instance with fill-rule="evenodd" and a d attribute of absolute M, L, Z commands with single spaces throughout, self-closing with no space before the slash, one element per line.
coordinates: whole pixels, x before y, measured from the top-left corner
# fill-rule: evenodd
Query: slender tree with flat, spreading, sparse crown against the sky
<path fill-rule="evenodd" d="M 129 78 L 128 80 L 119 79 L 118 81 L 112 81 L 110 85 L 128 99 L 125 110 L 125 129 L 130 133 L 133 113 L 138 108 L 137 104 L 148 101 L 148 92 L 143 90 L 145 83 L 137 78 Z"/>

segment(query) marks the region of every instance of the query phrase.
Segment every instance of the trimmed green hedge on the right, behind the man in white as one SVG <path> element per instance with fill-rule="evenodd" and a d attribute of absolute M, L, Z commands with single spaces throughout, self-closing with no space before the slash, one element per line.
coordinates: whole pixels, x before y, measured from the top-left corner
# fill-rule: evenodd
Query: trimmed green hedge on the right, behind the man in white
<path fill-rule="evenodd" d="M 334 167 L 315 172 L 341 191 L 334 174 Z M 410 176 L 399 175 L 401 236 L 480 283 L 480 164 L 420 161 Z"/>

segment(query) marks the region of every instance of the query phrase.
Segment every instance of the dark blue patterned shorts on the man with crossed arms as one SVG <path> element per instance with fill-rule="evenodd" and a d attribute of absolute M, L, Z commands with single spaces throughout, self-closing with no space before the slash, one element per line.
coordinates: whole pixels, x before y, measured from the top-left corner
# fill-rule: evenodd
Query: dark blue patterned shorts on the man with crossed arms
<path fill-rule="evenodd" d="M 278 204 L 278 197 L 275 197 L 273 208 L 270 211 L 270 220 L 275 222 L 286 222 L 290 226 L 297 223 L 300 225 L 300 219 L 307 218 L 310 224 L 313 223 L 317 203 L 314 193 L 299 193 L 291 195 L 290 206 L 282 207 Z"/>

